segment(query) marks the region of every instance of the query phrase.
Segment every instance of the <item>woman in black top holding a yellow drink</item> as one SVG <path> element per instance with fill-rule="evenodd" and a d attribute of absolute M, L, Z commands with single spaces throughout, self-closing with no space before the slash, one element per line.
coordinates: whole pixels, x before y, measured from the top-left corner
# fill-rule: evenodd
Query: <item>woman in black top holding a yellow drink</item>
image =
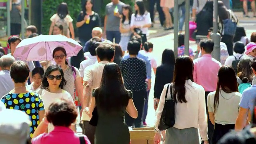
<path fill-rule="evenodd" d="M 76 27 L 82 46 L 92 38 L 92 29 L 100 26 L 100 16 L 92 11 L 92 7 L 92 0 L 86 0 L 77 18 Z"/>

